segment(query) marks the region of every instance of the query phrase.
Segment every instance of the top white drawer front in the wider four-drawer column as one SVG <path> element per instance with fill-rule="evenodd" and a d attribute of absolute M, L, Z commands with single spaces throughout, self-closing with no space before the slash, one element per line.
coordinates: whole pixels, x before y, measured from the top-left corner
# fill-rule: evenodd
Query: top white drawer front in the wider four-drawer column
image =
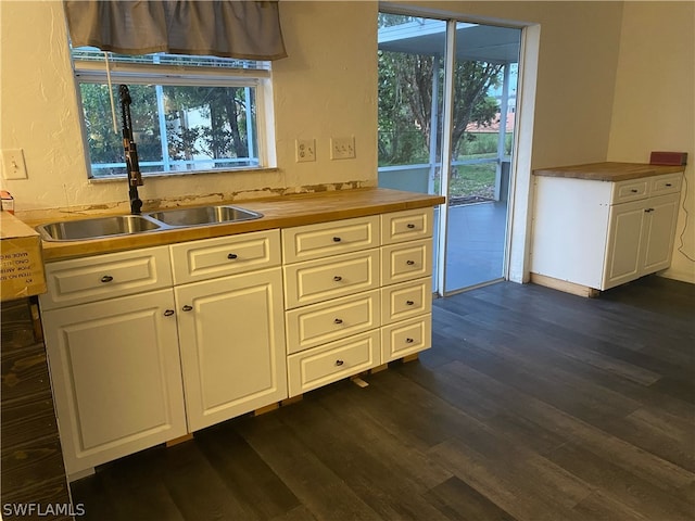
<path fill-rule="evenodd" d="M 379 246 L 379 216 L 282 230 L 286 264 Z"/>

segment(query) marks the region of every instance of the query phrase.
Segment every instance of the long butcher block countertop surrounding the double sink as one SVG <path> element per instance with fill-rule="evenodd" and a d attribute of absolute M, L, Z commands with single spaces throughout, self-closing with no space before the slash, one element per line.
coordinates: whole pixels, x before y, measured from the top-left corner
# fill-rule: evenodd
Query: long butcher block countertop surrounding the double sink
<path fill-rule="evenodd" d="M 427 195 L 424 193 L 381 188 L 302 193 L 262 200 L 219 201 L 215 204 L 231 204 L 252 209 L 262 213 L 263 217 L 240 223 L 195 226 L 84 241 L 54 242 L 43 240 L 41 241 L 41 245 L 43 250 L 43 260 L 51 262 L 273 228 L 289 228 L 388 212 L 425 208 L 437 206 L 444 201 L 445 199 L 439 195 Z M 143 207 L 143 213 L 157 209 L 160 208 Z M 78 215 L 76 218 L 104 217 L 106 215 L 109 214 Z M 67 218 L 65 214 L 60 214 L 56 215 L 55 218 L 47 217 L 40 221 L 25 221 L 29 226 L 38 226 L 56 220 L 67 220 Z"/>

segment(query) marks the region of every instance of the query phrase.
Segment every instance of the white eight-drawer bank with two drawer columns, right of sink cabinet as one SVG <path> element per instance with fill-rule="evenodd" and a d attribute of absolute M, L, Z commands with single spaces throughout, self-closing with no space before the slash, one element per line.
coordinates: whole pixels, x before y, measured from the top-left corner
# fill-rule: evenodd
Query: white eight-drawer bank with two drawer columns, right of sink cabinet
<path fill-rule="evenodd" d="M 290 396 L 431 346 L 432 217 L 282 230 Z"/>

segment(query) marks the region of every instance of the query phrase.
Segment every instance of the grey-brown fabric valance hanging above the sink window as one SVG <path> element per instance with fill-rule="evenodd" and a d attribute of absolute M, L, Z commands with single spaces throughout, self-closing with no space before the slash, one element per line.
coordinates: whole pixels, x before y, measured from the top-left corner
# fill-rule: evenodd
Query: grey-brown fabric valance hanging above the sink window
<path fill-rule="evenodd" d="M 277 1 L 68 0 L 64 7 L 73 47 L 119 54 L 287 56 Z"/>

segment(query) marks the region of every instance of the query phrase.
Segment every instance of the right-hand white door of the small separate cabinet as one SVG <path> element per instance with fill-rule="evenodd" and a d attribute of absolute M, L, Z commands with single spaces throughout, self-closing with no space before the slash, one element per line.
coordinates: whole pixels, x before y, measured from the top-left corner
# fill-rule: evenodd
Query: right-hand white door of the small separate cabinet
<path fill-rule="evenodd" d="M 679 194 L 662 195 L 648 201 L 645 214 L 644 256 L 641 275 L 666 269 L 671 264 Z"/>

